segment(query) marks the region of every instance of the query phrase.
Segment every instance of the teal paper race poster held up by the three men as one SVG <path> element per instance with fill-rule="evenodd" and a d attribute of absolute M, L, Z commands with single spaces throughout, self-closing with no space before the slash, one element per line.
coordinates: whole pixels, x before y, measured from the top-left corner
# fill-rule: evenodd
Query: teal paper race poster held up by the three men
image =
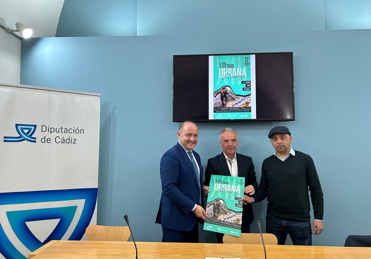
<path fill-rule="evenodd" d="M 204 229 L 241 236 L 244 177 L 211 175 Z"/>

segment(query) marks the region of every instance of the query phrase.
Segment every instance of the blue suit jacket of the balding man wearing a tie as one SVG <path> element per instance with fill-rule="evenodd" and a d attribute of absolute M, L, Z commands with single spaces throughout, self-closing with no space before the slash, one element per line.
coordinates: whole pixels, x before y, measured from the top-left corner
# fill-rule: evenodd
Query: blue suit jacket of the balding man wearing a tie
<path fill-rule="evenodd" d="M 192 152 L 200 168 L 201 188 L 197 184 L 192 162 L 179 143 L 161 158 L 162 193 L 156 223 L 161 224 L 162 228 L 190 231 L 197 222 L 197 216 L 191 210 L 195 203 L 200 203 L 200 195 L 203 200 L 203 169 L 200 156 Z"/>

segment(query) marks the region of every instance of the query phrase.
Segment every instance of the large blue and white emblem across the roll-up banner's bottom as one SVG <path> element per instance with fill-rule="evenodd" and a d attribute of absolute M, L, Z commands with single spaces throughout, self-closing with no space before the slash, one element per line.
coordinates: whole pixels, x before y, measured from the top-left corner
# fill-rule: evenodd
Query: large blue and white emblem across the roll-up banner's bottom
<path fill-rule="evenodd" d="M 98 188 L 0 193 L 0 257 L 27 259 L 50 240 L 81 240 L 97 195 Z M 46 229 L 47 221 L 56 223 Z"/>

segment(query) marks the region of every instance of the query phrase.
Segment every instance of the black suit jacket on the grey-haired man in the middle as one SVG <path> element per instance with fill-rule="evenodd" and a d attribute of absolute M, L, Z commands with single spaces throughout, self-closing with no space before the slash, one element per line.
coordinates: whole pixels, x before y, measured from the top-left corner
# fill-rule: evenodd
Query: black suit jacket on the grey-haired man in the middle
<path fill-rule="evenodd" d="M 257 190 L 258 184 L 256 182 L 254 164 L 251 157 L 241 155 L 236 153 L 237 158 L 237 169 L 238 176 L 245 178 L 245 186 L 252 185 L 254 186 L 255 191 Z M 224 157 L 223 152 L 216 157 L 210 158 L 207 160 L 207 167 L 205 171 L 205 181 L 204 185 L 210 185 L 211 175 L 226 175 L 230 176 L 230 171 L 226 158 Z M 211 183 L 213 184 L 213 183 Z M 242 208 L 242 230 L 249 226 L 254 220 L 254 213 L 251 204 L 243 205 Z"/>

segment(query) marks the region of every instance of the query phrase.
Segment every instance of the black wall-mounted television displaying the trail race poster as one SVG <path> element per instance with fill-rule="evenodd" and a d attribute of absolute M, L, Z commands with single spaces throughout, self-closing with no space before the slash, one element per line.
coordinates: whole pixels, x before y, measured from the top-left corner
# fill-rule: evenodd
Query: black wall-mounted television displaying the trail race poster
<path fill-rule="evenodd" d="M 173 121 L 293 121 L 293 53 L 173 55 Z"/>

